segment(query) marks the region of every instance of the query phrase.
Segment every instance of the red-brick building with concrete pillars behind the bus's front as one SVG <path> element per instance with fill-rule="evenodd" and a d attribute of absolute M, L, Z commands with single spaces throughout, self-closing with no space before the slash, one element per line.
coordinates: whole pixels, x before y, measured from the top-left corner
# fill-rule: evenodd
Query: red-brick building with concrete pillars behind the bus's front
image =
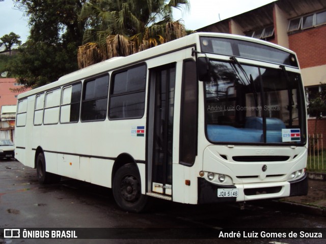
<path fill-rule="evenodd" d="M 313 96 L 326 83 L 325 0 L 278 0 L 197 31 L 249 36 L 289 48 L 297 54 L 307 92 Z M 313 134 L 315 119 L 308 118 L 308 133 Z M 317 133 L 326 137 L 326 118 L 318 120 Z"/>

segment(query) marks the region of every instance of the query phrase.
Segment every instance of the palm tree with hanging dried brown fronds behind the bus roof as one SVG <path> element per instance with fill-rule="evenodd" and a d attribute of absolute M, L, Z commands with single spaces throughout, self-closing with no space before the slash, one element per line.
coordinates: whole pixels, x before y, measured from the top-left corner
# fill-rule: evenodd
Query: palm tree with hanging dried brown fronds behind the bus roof
<path fill-rule="evenodd" d="M 85 44 L 78 49 L 79 68 L 185 36 L 184 25 L 173 21 L 173 8 L 187 11 L 189 3 L 187 0 L 88 2 L 80 14 L 88 28 L 84 35 Z"/>

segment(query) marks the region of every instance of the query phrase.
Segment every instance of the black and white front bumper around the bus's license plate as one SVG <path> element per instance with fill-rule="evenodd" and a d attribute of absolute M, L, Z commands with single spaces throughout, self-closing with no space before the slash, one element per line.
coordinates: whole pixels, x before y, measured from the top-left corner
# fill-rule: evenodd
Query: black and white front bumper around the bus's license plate
<path fill-rule="evenodd" d="M 238 197 L 218 197 L 219 188 L 237 188 Z M 244 202 L 250 200 L 303 196 L 308 193 L 307 173 L 294 181 L 237 184 L 233 186 L 215 185 L 204 178 L 198 178 L 198 203 Z"/>

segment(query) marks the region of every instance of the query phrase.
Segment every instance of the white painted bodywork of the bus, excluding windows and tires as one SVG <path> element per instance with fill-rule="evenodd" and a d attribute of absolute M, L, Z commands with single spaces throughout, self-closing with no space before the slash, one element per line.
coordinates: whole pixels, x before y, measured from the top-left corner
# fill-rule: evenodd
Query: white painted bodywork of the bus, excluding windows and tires
<path fill-rule="evenodd" d="M 211 145 L 205 137 L 205 106 L 204 106 L 204 90 L 203 82 L 198 85 L 198 148 L 197 157 L 192 167 L 184 166 L 179 163 L 179 125 L 180 125 L 180 101 L 181 101 L 181 81 L 183 60 L 187 58 L 195 59 L 192 55 L 192 49 L 199 47 L 200 36 L 216 36 L 230 38 L 231 35 L 200 33 L 169 42 L 167 44 L 157 46 L 128 57 L 120 57 L 109 59 L 99 64 L 87 67 L 85 69 L 73 72 L 61 77 L 58 81 L 48 85 L 30 90 L 24 94 L 18 95 L 18 101 L 28 98 L 28 111 L 26 113 L 25 127 L 16 127 L 15 144 L 16 158 L 26 166 L 35 167 L 35 154 L 37 148 L 44 150 L 46 170 L 51 173 L 84 180 L 96 185 L 104 187 L 112 187 L 112 169 L 116 158 L 121 154 L 129 154 L 137 161 L 141 181 L 142 193 L 146 194 L 147 175 L 146 170 L 146 148 L 147 128 L 145 128 L 144 137 L 131 136 L 131 128 L 135 126 L 147 126 L 147 107 L 148 107 L 148 85 L 149 70 L 158 66 L 176 63 L 176 84 L 175 84 L 175 101 L 174 103 L 174 128 L 173 128 L 173 168 L 172 168 L 172 200 L 180 203 L 198 203 L 198 178 L 200 171 L 223 173 L 234 179 L 233 184 L 239 189 L 237 201 L 262 199 L 268 197 L 279 197 L 289 195 L 289 182 L 287 177 L 295 170 L 305 167 L 307 158 L 307 148 L 297 147 L 295 149 L 286 147 L 270 147 L 261 146 L 234 146 L 229 148 L 224 145 Z M 250 42 L 261 43 L 271 47 L 278 47 L 285 51 L 285 48 L 275 44 L 266 43 L 261 40 L 255 40 L 247 37 L 234 36 L 232 38 L 239 40 L 247 40 Z M 185 48 L 186 47 L 186 48 Z M 291 51 L 289 51 L 291 52 Z M 292 52 L 293 53 L 293 52 Z M 208 57 L 213 54 L 208 54 Z M 217 55 L 214 55 L 217 57 Z M 229 56 L 220 56 L 229 59 Z M 239 60 L 242 60 L 239 58 Z M 119 119 L 109 120 L 106 116 L 104 121 L 90 121 L 60 124 L 59 107 L 51 110 L 43 110 L 49 113 L 46 116 L 49 123 L 56 121 L 59 117 L 58 124 L 34 126 L 34 106 L 37 94 L 45 93 L 47 90 L 54 88 L 62 88 L 64 85 L 81 81 L 85 78 L 96 76 L 98 74 L 108 73 L 110 79 L 112 73 L 116 70 L 129 67 L 131 65 L 140 64 L 147 65 L 147 82 L 145 95 L 145 112 L 144 116 L 139 119 Z M 247 60 L 247 63 L 253 62 Z M 268 64 L 269 65 L 269 64 Z M 270 64 L 270 66 L 276 66 Z M 291 69 L 291 68 L 287 68 Z M 110 81 L 111 82 L 111 81 Z M 61 107 L 62 108 L 62 107 Z M 64 108 L 67 109 L 67 108 Z M 44 112 L 45 113 L 45 112 Z M 67 117 L 69 111 L 64 111 Z M 21 115 L 24 116 L 24 115 Z M 45 121 L 45 123 L 46 123 Z M 289 155 L 288 162 L 255 162 L 255 163 L 239 163 L 232 161 L 235 155 L 253 155 L 257 150 L 275 150 L 277 155 Z M 227 155 L 225 160 L 220 155 Z M 296 157 L 294 158 L 294 156 Z M 268 172 L 283 176 L 266 177 L 261 171 L 262 164 L 266 164 Z M 282 165 L 282 167 L 280 167 Z M 280 172 L 281 171 L 281 172 Z M 237 176 L 257 175 L 257 179 L 252 181 L 248 178 L 238 178 Z M 190 181 L 190 185 L 185 184 L 185 180 Z M 249 182 L 250 181 L 250 182 Z M 258 184 L 259 183 L 259 184 Z M 261 184 L 261 185 L 260 185 Z M 282 190 L 279 195 L 255 195 L 244 196 L 244 189 L 257 188 L 260 186 L 281 186 Z M 150 189 L 147 189 L 149 192 Z M 169 191 L 170 193 L 170 191 Z"/>

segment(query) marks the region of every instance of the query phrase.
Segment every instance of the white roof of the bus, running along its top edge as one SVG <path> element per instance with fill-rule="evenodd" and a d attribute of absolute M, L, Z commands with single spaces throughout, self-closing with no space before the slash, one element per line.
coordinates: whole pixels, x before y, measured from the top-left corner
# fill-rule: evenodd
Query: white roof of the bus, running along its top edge
<path fill-rule="evenodd" d="M 110 71 L 112 69 L 118 69 L 123 66 L 139 63 L 146 59 L 149 59 L 149 58 L 152 58 L 155 56 L 159 56 L 164 53 L 169 53 L 174 50 L 182 49 L 185 47 L 195 46 L 197 43 L 199 43 L 200 36 L 221 37 L 221 38 L 230 38 L 230 39 L 238 39 L 238 40 L 243 40 L 243 41 L 250 41 L 250 42 L 263 44 L 266 46 L 270 46 L 270 47 L 277 48 L 277 49 L 294 54 L 293 51 L 291 51 L 287 48 L 276 45 L 274 43 L 259 40 L 256 38 L 250 38 L 250 37 L 238 36 L 238 35 L 232 35 L 232 34 L 223 34 L 223 33 L 204 33 L 204 32 L 194 33 L 194 34 L 179 38 L 177 40 L 173 40 L 171 42 L 164 43 L 164 44 L 158 45 L 156 47 L 152 47 L 150 49 L 146 49 L 144 51 L 131 54 L 127 57 L 113 57 L 113 58 L 107 59 L 103 62 L 100 62 L 98 64 L 94 64 L 89 67 L 74 71 L 72 73 L 69 73 L 67 75 L 60 77 L 58 79 L 58 81 L 55 81 L 50 84 L 29 90 L 28 92 L 18 95 L 18 100 L 21 98 L 24 98 L 24 97 L 28 97 L 28 96 L 31 96 L 34 94 L 41 93 L 44 90 L 53 89 L 53 88 L 62 86 L 69 82 L 83 80 L 85 78 L 104 73 L 105 71 Z"/>

